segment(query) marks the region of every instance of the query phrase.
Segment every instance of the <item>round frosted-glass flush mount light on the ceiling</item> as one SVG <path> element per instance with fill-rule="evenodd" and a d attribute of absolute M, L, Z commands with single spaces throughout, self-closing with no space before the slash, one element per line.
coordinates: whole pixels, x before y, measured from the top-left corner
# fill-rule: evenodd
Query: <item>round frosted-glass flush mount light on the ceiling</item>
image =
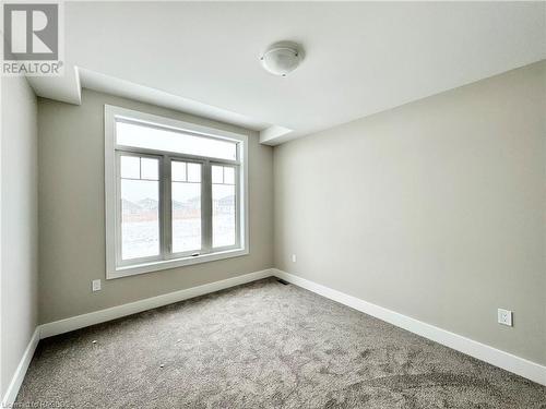
<path fill-rule="evenodd" d="M 292 41 L 272 44 L 260 57 L 263 68 L 273 75 L 286 76 L 304 60 L 304 49 Z"/>

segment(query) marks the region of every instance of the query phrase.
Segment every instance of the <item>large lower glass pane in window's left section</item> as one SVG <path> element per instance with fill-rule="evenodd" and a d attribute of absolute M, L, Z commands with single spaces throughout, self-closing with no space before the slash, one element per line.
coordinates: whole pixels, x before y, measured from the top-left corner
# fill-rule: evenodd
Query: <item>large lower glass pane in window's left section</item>
<path fill-rule="evenodd" d="M 121 179 L 121 258 L 158 254 L 159 182 Z"/>

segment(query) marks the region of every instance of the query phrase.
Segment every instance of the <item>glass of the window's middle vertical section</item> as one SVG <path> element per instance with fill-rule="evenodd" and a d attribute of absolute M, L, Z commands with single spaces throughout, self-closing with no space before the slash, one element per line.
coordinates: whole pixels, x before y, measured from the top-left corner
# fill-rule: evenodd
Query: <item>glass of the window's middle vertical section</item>
<path fill-rule="evenodd" d="M 173 166 L 179 164 L 183 163 L 173 163 Z M 193 170 L 190 171 L 190 168 Z M 201 180 L 201 165 L 188 164 L 188 175 L 191 172 L 197 172 Z M 199 251 L 201 250 L 201 183 L 173 181 L 171 192 L 173 253 Z"/>

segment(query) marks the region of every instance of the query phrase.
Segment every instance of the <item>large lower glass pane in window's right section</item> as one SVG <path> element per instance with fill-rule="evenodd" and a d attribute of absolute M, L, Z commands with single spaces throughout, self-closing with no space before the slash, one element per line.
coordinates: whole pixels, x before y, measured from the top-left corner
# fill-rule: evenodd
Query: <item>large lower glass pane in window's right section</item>
<path fill-rule="evenodd" d="M 212 185 L 212 245 L 235 244 L 235 185 Z"/>

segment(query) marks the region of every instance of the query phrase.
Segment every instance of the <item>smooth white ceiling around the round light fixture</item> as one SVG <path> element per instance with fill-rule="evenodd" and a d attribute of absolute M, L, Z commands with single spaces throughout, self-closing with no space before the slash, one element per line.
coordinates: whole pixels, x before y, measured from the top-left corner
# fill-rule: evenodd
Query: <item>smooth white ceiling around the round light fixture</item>
<path fill-rule="evenodd" d="M 270 144 L 546 58 L 545 2 L 67 2 L 64 9 L 66 60 L 86 73 L 83 86 L 210 111 L 265 129 Z M 300 43 L 306 59 L 282 79 L 258 58 L 285 39 Z M 33 84 L 46 97 L 62 99 L 63 87 L 80 95 L 73 74 Z"/>

